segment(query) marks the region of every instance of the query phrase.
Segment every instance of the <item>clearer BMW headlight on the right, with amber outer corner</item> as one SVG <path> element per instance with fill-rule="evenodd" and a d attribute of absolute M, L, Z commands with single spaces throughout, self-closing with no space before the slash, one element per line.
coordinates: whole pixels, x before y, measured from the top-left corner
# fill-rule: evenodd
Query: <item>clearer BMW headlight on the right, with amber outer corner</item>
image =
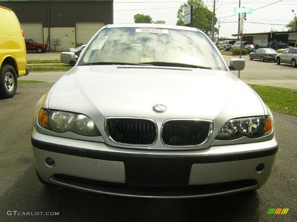
<path fill-rule="evenodd" d="M 270 133 L 272 122 L 269 116 L 228 120 L 217 134 L 217 140 L 233 140 L 243 136 L 255 139 Z"/>

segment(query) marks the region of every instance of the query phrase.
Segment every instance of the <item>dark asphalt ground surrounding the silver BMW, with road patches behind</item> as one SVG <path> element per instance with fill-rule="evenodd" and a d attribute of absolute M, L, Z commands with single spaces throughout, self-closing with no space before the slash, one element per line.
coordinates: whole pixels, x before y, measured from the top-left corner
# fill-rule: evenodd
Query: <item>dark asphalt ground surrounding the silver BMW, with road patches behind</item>
<path fill-rule="evenodd" d="M 250 62 L 276 67 L 270 62 Z M 292 67 L 282 70 L 283 74 L 273 72 L 271 78 L 295 78 Z M 46 78 L 54 73 L 36 73 L 35 77 L 40 75 Z M 63 72 L 55 78 L 59 75 Z M 13 98 L 0 100 L 0 221 L 297 221 L 297 117 L 280 113 L 274 113 L 279 142 L 274 168 L 266 185 L 255 192 L 190 200 L 143 200 L 44 186 L 34 169 L 31 121 L 35 104 L 55 81 L 19 85 Z M 286 215 L 267 215 L 270 208 L 290 210 Z M 12 215 L 7 215 L 8 211 Z M 13 211 L 35 215 L 13 215 Z"/>

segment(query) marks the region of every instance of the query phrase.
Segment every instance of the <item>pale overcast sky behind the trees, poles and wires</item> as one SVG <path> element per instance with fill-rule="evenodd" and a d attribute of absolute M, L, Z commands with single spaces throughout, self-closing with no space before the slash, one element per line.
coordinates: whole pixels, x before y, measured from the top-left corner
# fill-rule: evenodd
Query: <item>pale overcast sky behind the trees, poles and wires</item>
<path fill-rule="evenodd" d="M 177 10 L 185 2 L 187 1 L 114 0 L 113 22 L 115 24 L 134 23 L 133 16 L 139 13 L 151 16 L 154 21 L 164 20 L 166 24 L 175 25 Z M 208 9 L 213 11 L 213 0 L 204 0 L 204 3 Z M 238 32 L 238 14 L 234 13 L 234 7 L 238 6 L 239 1 L 236 0 L 216 1 L 216 17 L 220 21 L 219 37 L 230 38 L 232 34 Z M 256 9 L 252 14 L 247 14 L 244 33 L 268 32 L 271 28 L 287 31 L 285 25 L 294 18 L 292 9 L 295 11 L 294 13 L 297 13 L 297 0 L 241 0 L 241 7 Z M 218 27 L 218 23 L 216 27 Z"/>

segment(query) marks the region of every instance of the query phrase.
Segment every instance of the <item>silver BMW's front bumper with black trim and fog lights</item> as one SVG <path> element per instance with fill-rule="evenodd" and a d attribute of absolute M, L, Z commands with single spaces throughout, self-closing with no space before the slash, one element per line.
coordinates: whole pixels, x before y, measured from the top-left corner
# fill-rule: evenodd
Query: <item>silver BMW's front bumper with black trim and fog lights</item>
<path fill-rule="evenodd" d="M 242 152 L 231 152 L 237 145 L 157 152 L 89 141 L 76 141 L 73 146 L 74 142 L 34 131 L 34 164 L 44 181 L 85 192 L 141 198 L 205 197 L 260 188 L 268 180 L 278 149 L 275 139 L 241 144 L 246 146 Z M 262 149 L 252 149 L 257 146 Z M 47 157 L 55 164 L 47 165 Z M 260 163 L 265 168 L 257 171 Z"/>

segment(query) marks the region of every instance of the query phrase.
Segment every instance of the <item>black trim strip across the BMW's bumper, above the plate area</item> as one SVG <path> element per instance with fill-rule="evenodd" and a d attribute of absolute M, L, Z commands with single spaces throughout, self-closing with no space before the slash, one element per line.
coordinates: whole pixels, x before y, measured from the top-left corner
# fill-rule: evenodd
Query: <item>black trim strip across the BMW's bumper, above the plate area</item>
<path fill-rule="evenodd" d="M 50 152 L 56 152 L 66 155 L 87 157 L 91 159 L 110 160 L 127 162 L 131 158 L 137 158 L 138 161 L 148 161 L 150 163 L 160 164 L 198 164 L 198 163 L 220 163 L 238 160 L 248 160 L 260 157 L 274 155 L 278 150 L 278 145 L 275 147 L 251 150 L 244 152 L 222 153 L 222 154 L 201 154 L 201 155 L 164 155 L 164 154 L 136 154 L 124 152 L 106 152 L 93 149 L 85 149 L 80 147 L 70 147 L 48 143 L 31 138 L 31 143 L 37 149 L 42 149 Z"/>

